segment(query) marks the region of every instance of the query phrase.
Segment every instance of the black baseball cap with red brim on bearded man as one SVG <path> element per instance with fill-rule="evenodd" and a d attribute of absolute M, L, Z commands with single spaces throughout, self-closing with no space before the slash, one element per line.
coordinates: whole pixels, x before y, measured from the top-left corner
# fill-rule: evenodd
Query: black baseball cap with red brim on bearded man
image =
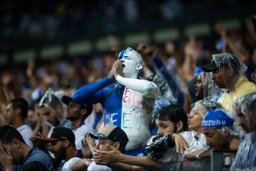
<path fill-rule="evenodd" d="M 41 141 L 43 143 L 50 143 L 50 141 L 57 140 L 69 140 L 71 142 L 75 142 L 75 134 L 73 131 L 66 127 L 56 127 L 53 129 L 50 138 L 43 138 Z"/>

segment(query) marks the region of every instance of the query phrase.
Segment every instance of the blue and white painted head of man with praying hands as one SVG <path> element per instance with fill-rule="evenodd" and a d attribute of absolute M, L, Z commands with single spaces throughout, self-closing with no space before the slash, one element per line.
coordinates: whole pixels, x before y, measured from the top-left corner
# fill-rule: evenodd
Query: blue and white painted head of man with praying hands
<path fill-rule="evenodd" d="M 127 78 L 132 78 L 137 72 L 140 73 L 142 69 L 142 58 L 139 53 L 132 48 L 128 47 L 122 50 L 118 56 L 119 60 L 123 63 L 123 74 Z"/>

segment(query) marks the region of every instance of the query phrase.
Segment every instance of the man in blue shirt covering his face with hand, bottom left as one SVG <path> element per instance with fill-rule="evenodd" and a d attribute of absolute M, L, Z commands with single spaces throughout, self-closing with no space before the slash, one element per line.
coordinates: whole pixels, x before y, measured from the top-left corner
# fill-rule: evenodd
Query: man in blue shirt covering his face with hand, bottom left
<path fill-rule="evenodd" d="M 50 157 L 43 151 L 29 147 L 19 131 L 12 126 L 0 127 L 0 163 L 4 170 L 22 171 L 31 161 L 42 162 L 49 171 L 53 171 Z"/>

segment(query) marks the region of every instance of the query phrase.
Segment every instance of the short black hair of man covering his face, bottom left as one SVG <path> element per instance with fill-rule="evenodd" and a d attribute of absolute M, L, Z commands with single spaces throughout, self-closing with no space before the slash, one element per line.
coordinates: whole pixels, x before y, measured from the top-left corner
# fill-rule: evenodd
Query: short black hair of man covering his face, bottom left
<path fill-rule="evenodd" d="M 17 139 L 25 143 L 21 133 L 12 126 L 4 125 L 0 127 L 0 141 L 7 145 L 12 145 L 12 140 Z"/>

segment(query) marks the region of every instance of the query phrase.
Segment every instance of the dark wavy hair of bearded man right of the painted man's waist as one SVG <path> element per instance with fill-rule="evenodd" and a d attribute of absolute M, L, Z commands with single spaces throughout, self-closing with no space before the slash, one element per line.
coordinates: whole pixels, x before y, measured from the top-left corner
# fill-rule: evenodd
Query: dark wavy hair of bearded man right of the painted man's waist
<path fill-rule="evenodd" d="M 179 121 L 183 123 L 183 129 L 187 129 L 187 115 L 184 109 L 177 104 L 169 104 L 162 109 L 160 109 L 155 114 L 155 119 L 162 121 L 171 121 L 177 124 Z"/>

